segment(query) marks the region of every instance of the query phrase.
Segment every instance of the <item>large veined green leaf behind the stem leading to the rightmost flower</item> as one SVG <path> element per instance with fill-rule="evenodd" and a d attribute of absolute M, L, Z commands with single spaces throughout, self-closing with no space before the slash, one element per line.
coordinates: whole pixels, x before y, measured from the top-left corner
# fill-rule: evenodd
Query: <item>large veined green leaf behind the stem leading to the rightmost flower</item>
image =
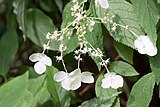
<path fill-rule="evenodd" d="M 138 20 L 135 18 L 133 13 L 132 5 L 125 0 L 111 0 L 109 1 L 109 12 L 110 16 L 115 16 L 113 22 L 128 26 L 128 29 L 134 32 L 137 36 L 144 35 Z M 107 22 L 104 24 L 109 30 L 111 36 L 118 42 L 135 49 L 134 41 L 136 36 L 129 32 L 129 30 L 123 27 L 117 27 L 115 31 L 112 31 L 113 25 Z"/>

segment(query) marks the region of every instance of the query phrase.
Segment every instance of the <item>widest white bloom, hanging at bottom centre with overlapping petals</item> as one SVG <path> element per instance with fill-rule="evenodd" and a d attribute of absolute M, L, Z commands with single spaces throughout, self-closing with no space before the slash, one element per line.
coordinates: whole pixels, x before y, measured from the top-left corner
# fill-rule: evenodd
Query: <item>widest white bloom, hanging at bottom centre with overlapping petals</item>
<path fill-rule="evenodd" d="M 71 73 L 66 73 L 64 71 L 57 72 L 54 75 L 54 80 L 57 82 L 61 82 L 61 85 L 66 90 L 76 90 L 81 86 L 81 82 L 83 83 L 93 83 L 94 78 L 92 73 L 83 72 L 81 73 L 80 69 L 75 69 Z"/>

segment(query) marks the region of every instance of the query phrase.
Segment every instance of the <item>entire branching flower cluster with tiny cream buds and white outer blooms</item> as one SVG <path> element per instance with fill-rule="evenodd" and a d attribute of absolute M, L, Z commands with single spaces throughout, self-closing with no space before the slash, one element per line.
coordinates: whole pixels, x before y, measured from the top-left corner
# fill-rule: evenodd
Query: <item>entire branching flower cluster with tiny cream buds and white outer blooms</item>
<path fill-rule="evenodd" d="M 42 53 L 34 53 L 29 59 L 32 62 L 36 62 L 34 69 L 38 74 L 42 74 L 46 70 L 46 66 L 51 66 L 51 59 L 44 54 L 45 50 L 50 49 L 50 42 L 59 42 L 59 56 L 55 56 L 57 61 L 61 62 L 64 67 L 64 71 L 59 71 L 54 74 L 53 78 L 55 81 L 60 82 L 61 86 L 66 90 L 76 90 L 82 83 L 93 83 L 94 77 L 90 72 L 81 72 L 80 61 L 82 61 L 82 54 L 88 53 L 92 57 L 99 58 L 101 60 L 100 64 L 106 68 L 107 73 L 102 79 L 101 86 L 103 88 L 114 88 L 117 89 L 123 86 L 123 78 L 114 72 L 109 72 L 107 65 L 109 59 L 103 59 L 103 52 L 99 48 L 95 48 L 89 43 L 85 37 L 86 31 L 92 32 L 96 23 L 109 23 L 111 25 L 111 30 L 116 31 L 117 27 L 122 27 L 132 33 L 137 39 L 134 42 L 135 48 L 140 54 L 147 54 L 149 56 L 154 56 L 157 54 L 157 48 L 152 44 L 148 36 L 137 36 L 133 31 L 131 31 L 128 25 L 121 25 L 113 21 L 114 16 L 106 14 L 104 17 L 88 17 L 87 12 L 84 9 L 84 4 L 87 0 L 79 2 L 79 0 L 73 0 L 71 7 L 71 15 L 74 17 L 73 22 L 69 23 L 61 31 L 55 30 L 52 33 L 46 34 L 46 39 L 48 42 L 43 45 Z M 108 9 L 109 3 L 107 0 L 95 0 L 96 8 Z M 88 29 L 87 29 L 88 28 Z M 63 60 L 63 52 L 67 50 L 64 44 L 64 36 L 70 39 L 73 30 L 76 31 L 79 49 L 74 51 L 74 58 L 78 61 L 78 67 L 74 71 L 68 73 L 65 67 L 65 62 Z"/>

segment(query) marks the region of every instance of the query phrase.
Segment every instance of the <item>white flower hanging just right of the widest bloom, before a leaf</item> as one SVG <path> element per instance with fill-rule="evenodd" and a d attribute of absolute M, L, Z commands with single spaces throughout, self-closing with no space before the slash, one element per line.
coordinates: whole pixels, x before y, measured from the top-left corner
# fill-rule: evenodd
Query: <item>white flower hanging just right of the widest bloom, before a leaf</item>
<path fill-rule="evenodd" d="M 112 87 L 117 89 L 123 86 L 123 78 L 120 75 L 116 75 L 116 73 L 111 72 L 104 75 L 104 79 L 102 79 L 101 86 L 103 88 Z"/>

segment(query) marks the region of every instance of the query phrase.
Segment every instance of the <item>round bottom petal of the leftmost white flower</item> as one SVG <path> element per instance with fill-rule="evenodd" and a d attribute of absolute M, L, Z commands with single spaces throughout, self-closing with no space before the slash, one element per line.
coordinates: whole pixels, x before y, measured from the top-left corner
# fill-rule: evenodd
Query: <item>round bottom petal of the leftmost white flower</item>
<path fill-rule="evenodd" d="M 41 62 L 37 62 L 34 65 L 34 70 L 38 73 L 38 74 L 43 74 L 46 71 L 46 66 L 41 63 Z"/>

